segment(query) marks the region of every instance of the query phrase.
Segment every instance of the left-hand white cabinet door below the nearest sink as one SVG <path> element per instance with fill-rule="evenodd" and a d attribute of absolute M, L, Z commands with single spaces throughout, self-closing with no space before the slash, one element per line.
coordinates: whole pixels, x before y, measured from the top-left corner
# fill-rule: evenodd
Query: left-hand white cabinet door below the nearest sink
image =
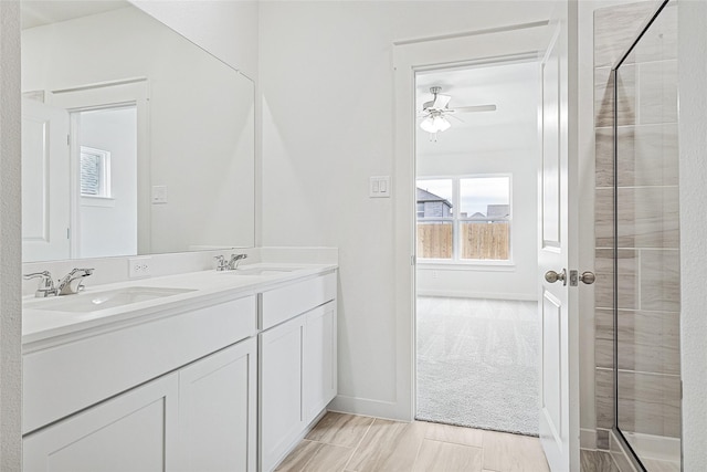
<path fill-rule="evenodd" d="M 170 470 L 176 463 L 177 395 L 177 375 L 168 375 L 28 434 L 23 470 Z"/>

